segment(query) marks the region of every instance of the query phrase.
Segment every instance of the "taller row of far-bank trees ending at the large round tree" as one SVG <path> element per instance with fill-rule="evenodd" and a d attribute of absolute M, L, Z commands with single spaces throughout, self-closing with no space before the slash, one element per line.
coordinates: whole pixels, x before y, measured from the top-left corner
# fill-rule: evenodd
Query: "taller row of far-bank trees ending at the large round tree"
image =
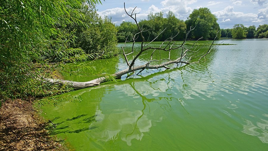
<path fill-rule="evenodd" d="M 183 40 L 186 32 L 195 28 L 188 38 L 199 39 L 203 37 L 204 40 L 214 39 L 217 35 L 217 39 L 220 37 L 220 28 L 217 23 L 217 18 L 211 13 L 208 8 L 194 9 L 186 21 L 177 19 L 172 11 L 166 14 L 166 18 L 163 17 L 163 12 L 149 13 L 147 19 L 140 20 L 139 26 L 144 33 L 144 37 L 148 41 L 152 41 L 163 30 L 164 32 L 159 35 L 155 41 L 164 41 L 170 36 L 175 36 L 173 40 Z M 123 21 L 117 29 L 118 42 L 131 41 L 131 37 L 138 33 L 138 28 L 135 23 L 130 21 Z M 138 37 L 136 41 L 141 41 L 141 37 Z"/>

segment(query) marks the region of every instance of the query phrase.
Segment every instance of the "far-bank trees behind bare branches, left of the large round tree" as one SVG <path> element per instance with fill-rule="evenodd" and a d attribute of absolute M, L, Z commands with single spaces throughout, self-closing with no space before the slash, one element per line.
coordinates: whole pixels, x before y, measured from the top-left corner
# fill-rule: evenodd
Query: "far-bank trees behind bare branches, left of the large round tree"
<path fill-rule="evenodd" d="M 163 12 L 149 13 L 147 20 L 139 21 L 139 26 L 142 28 L 143 36 L 147 41 L 152 41 L 157 37 L 156 41 L 164 41 L 170 36 L 178 35 L 174 40 L 182 40 L 185 38 L 186 24 L 183 20 L 177 19 L 172 11 L 167 13 L 166 18 L 163 17 Z M 117 38 L 119 42 L 131 41 L 136 33 L 138 33 L 137 26 L 133 22 L 123 21 L 120 26 L 116 27 L 118 30 Z M 163 30 L 163 34 L 160 34 Z M 146 31 L 146 32 L 145 32 Z M 160 35 L 159 35 L 160 34 Z M 142 41 L 141 37 L 135 39 L 136 41 Z"/>

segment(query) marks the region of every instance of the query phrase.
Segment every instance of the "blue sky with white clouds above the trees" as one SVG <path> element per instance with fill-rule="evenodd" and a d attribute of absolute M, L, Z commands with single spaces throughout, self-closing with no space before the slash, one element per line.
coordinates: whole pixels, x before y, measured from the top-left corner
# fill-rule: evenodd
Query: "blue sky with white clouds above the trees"
<path fill-rule="evenodd" d="M 147 19 L 147 15 L 162 11 L 164 17 L 170 10 L 178 19 L 186 20 L 194 9 L 207 7 L 216 16 L 220 28 L 233 28 L 235 24 L 250 25 L 268 24 L 268 0 L 102 0 L 98 4 L 97 13 L 108 16 L 116 25 L 122 21 L 134 21 L 124 11 L 131 13 L 135 9 L 137 21 Z"/>

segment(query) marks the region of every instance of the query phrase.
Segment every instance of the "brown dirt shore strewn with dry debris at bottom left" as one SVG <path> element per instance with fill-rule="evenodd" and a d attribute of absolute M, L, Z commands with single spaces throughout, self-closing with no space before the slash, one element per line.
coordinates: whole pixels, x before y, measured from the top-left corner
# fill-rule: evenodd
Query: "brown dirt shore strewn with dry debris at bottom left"
<path fill-rule="evenodd" d="M 48 124 L 33 109 L 32 102 L 6 101 L 0 109 L 0 151 L 68 150 L 63 140 L 48 134 Z"/>

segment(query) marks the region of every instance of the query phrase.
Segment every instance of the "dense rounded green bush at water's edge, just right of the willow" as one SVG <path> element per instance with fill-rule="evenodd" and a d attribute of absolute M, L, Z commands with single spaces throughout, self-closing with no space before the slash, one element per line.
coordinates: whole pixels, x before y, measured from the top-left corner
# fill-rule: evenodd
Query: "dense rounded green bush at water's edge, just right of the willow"
<path fill-rule="evenodd" d="M 81 20 L 84 25 L 71 24 L 66 27 L 69 33 L 74 32 L 77 37 L 71 47 L 82 48 L 95 57 L 117 53 L 116 28 L 111 20 L 100 18 L 94 4 L 83 4 L 79 10 L 85 15 Z"/>

